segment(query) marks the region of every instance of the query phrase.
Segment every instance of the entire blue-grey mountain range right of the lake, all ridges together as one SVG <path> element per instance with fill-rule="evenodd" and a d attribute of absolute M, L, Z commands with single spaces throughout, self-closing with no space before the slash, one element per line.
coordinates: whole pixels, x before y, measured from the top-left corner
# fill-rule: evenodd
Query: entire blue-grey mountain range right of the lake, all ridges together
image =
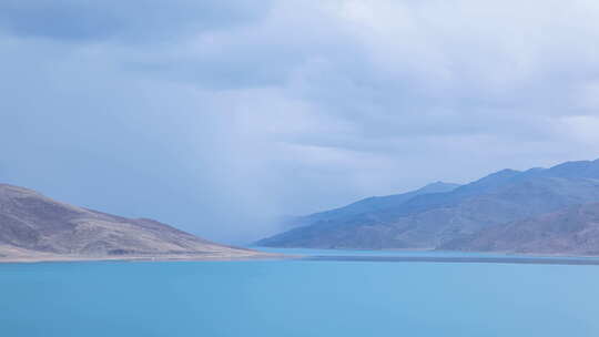
<path fill-rule="evenodd" d="M 568 239 L 565 236 L 570 227 L 582 223 L 592 227 L 592 219 L 580 216 L 577 221 L 566 221 L 562 214 L 573 212 L 568 210 L 589 211 L 597 202 L 599 160 L 567 162 L 550 168 L 502 170 L 460 186 L 436 183 L 405 194 L 366 198 L 297 217 L 293 228 L 257 244 L 590 254 L 597 249 L 581 248 L 573 236 Z M 556 223 L 561 224 L 558 226 L 561 232 L 539 234 L 545 225 L 556 227 Z M 516 228 L 525 226 L 540 236 L 534 235 L 530 243 L 514 241 L 518 236 Z M 597 239 L 593 231 L 582 233 L 579 235 L 587 235 L 585 239 L 589 243 Z M 560 239 L 562 245 L 557 245 Z"/>

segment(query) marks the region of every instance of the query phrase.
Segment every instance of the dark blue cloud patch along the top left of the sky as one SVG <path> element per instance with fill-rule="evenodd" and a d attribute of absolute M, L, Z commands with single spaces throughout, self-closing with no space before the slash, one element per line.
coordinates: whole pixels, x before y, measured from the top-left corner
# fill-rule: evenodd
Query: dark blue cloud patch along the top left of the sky
<path fill-rule="evenodd" d="M 20 37 L 79 43 L 106 39 L 160 43 L 243 27 L 267 13 L 268 7 L 270 1 L 245 0 L 7 0 L 0 3 L 0 27 Z"/>

